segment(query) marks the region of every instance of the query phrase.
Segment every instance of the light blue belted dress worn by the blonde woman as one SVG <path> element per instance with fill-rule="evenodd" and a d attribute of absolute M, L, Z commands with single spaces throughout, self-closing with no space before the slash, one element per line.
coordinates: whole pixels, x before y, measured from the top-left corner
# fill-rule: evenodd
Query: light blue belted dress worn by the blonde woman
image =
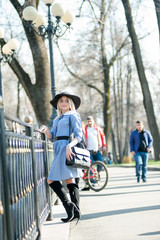
<path fill-rule="evenodd" d="M 70 136 L 72 133 L 79 142 L 82 140 L 80 115 L 77 112 L 68 111 L 61 115 L 60 118 L 54 120 L 51 130 L 52 138 L 50 140 L 54 137 Z M 68 144 L 69 140 L 58 140 L 54 142 L 54 160 L 49 171 L 48 179 L 62 181 L 82 176 L 81 169 L 68 167 L 66 165 L 66 146 Z"/>

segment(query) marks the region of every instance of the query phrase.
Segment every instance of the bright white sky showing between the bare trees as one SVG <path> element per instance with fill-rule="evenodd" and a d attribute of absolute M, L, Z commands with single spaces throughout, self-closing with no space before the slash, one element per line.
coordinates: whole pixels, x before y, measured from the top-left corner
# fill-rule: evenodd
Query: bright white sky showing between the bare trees
<path fill-rule="evenodd" d="M 124 24 L 126 25 L 126 20 L 125 20 L 125 15 L 124 15 L 124 9 L 123 9 L 123 5 L 121 3 L 121 1 L 119 0 L 113 0 L 114 2 L 118 3 L 118 11 L 117 11 L 117 16 L 122 19 L 122 21 L 124 21 Z M 19 0 L 20 3 L 23 3 L 24 0 Z M 80 4 L 82 2 L 82 0 L 60 0 L 58 2 L 61 2 L 62 5 L 65 8 L 68 8 L 72 11 L 72 13 L 74 15 L 77 15 L 79 13 L 79 7 Z M 131 4 L 134 5 L 135 0 L 130 0 Z M 79 32 L 81 31 L 81 29 L 83 29 L 84 27 L 86 27 L 86 20 L 87 18 L 84 17 L 84 15 L 86 15 L 86 7 L 87 7 L 88 3 L 87 1 L 84 3 L 83 8 L 82 8 L 82 16 L 81 18 L 75 18 L 74 22 L 73 22 L 73 30 L 70 31 L 70 34 L 67 33 L 64 36 L 64 40 L 61 39 L 61 47 L 62 47 L 62 51 L 65 52 L 69 52 L 72 43 L 74 43 L 74 41 L 76 40 L 76 36 L 79 34 Z M 14 30 L 14 22 L 12 22 L 12 19 L 9 18 L 10 14 L 13 13 L 13 6 L 11 5 L 9 0 L 0 0 L 0 6 L 1 9 L 7 9 L 8 10 L 8 15 L 6 15 L 6 18 L 3 18 L 3 16 L 0 14 L 0 22 L 4 25 L 4 27 L 6 28 L 6 25 L 9 23 L 10 25 L 12 25 L 12 29 Z M 43 9 L 45 9 L 45 5 L 43 3 L 43 1 L 40 1 L 40 8 L 39 8 L 39 12 L 44 11 Z M 14 10 L 15 11 L 15 10 Z M 3 14 L 5 14 L 3 12 Z M 15 11 L 16 14 L 16 11 Z M 157 26 L 157 19 L 156 19 L 156 14 L 155 14 L 155 8 L 154 8 L 154 4 L 152 0 L 142 0 L 140 7 L 138 9 L 138 11 L 134 10 L 134 8 L 132 9 L 132 14 L 134 16 L 134 18 L 136 17 L 136 32 L 137 35 L 140 36 L 139 39 L 139 43 L 141 46 L 141 51 L 142 54 L 144 56 L 143 60 L 144 61 L 148 61 L 150 63 L 152 63 L 154 66 L 157 67 L 157 69 L 160 70 L 160 47 L 159 47 L 159 33 L 158 33 L 158 26 Z M 45 15 L 47 15 L 47 8 L 46 8 L 46 12 Z M 6 21 L 7 19 L 7 21 Z M 17 23 L 16 23 L 17 24 Z M 17 26 L 15 25 L 15 28 Z M 6 29 L 5 29 L 6 30 Z M 150 33 L 148 35 L 148 33 Z M 12 34 L 15 34 L 15 30 L 12 32 Z M 144 37 L 146 36 L 146 37 Z M 9 31 L 5 31 L 5 37 L 6 39 L 10 38 L 10 32 Z M 16 37 L 16 36 L 14 36 Z M 23 59 L 22 62 L 26 62 L 28 59 L 28 52 L 27 51 L 27 45 L 28 44 L 23 38 L 21 38 L 21 36 L 18 36 L 20 38 L 21 43 L 24 45 L 23 46 Z M 68 39 L 69 41 L 66 42 L 65 38 Z M 48 44 L 47 40 L 46 40 L 46 45 Z M 64 47 L 63 47 L 64 46 Z M 54 54 L 56 55 L 56 59 L 59 57 L 58 56 L 58 51 L 56 49 L 54 49 Z M 32 63 L 31 63 L 32 65 Z"/>

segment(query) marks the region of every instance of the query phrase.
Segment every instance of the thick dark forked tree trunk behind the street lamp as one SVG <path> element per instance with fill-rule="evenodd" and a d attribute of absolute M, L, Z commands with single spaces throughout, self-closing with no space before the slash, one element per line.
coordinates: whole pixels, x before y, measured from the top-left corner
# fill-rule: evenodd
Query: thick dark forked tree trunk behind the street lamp
<path fill-rule="evenodd" d="M 51 107 L 49 104 L 49 101 L 51 100 L 51 80 L 47 49 L 44 40 L 33 30 L 29 32 L 29 30 L 26 28 L 26 25 L 22 19 L 22 11 L 24 6 L 22 6 L 18 0 L 10 0 L 10 2 L 16 9 L 22 21 L 30 45 L 35 68 L 36 83 L 32 84 L 29 74 L 23 70 L 22 66 L 20 66 L 16 59 L 12 60 L 10 67 L 17 75 L 17 78 L 25 89 L 25 92 L 33 106 L 38 123 L 48 124 L 49 117 L 51 115 Z M 38 1 L 26 1 L 25 6 L 27 3 L 30 3 L 30 5 L 32 3 L 32 5 L 35 5 L 36 7 Z"/>

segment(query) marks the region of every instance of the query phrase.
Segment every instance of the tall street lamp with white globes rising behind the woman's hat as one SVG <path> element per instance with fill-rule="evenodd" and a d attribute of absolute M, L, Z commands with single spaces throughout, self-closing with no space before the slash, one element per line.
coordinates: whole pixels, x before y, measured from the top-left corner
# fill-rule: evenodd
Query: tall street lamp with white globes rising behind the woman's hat
<path fill-rule="evenodd" d="M 36 8 L 29 6 L 23 11 L 23 17 L 26 24 L 31 29 L 33 28 L 36 34 L 47 38 L 49 42 L 49 58 L 50 58 L 50 74 L 51 74 L 51 93 L 52 98 L 56 95 L 55 88 L 55 76 L 54 76 L 54 60 L 53 60 L 53 36 L 61 37 L 65 32 L 70 29 L 73 22 L 73 15 L 69 10 L 64 11 L 61 4 L 54 2 L 54 0 L 43 0 L 48 7 L 48 24 L 46 25 L 44 17 L 38 13 Z M 52 20 L 52 15 L 54 20 Z M 50 117 L 49 127 L 52 127 L 53 119 L 56 117 L 56 110 L 53 108 L 52 115 Z"/>

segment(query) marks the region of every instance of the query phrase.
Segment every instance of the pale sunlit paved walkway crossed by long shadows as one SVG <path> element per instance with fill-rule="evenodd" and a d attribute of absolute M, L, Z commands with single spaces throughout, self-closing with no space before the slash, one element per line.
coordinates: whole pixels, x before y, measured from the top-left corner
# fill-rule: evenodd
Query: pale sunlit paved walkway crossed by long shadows
<path fill-rule="evenodd" d="M 62 205 L 53 206 L 42 240 L 160 240 L 160 172 L 148 171 L 147 183 L 138 184 L 134 168 L 108 171 L 106 189 L 80 192 L 80 223 L 62 223 Z"/>

